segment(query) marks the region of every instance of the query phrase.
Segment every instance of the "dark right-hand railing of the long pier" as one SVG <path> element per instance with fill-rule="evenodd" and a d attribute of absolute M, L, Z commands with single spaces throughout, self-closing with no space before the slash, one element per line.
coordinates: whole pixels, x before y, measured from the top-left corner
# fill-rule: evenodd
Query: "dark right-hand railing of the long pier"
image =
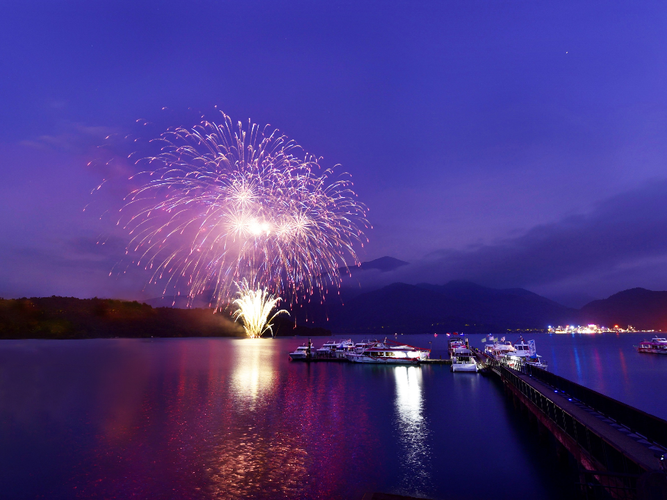
<path fill-rule="evenodd" d="M 590 406 L 602 413 L 602 415 L 614 419 L 618 424 L 626 426 L 632 432 L 645 437 L 647 440 L 661 444 L 662 447 L 667 447 L 667 422 L 661 418 L 621 403 L 616 399 L 600 394 L 600 392 L 588 389 L 588 387 L 569 381 L 567 378 L 552 374 L 529 363 L 523 363 L 519 360 L 499 361 L 486 356 L 483 357 L 486 358 L 485 364 L 490 368 L 497 370 L 507 370 L 509 368 L 537 378 L 555 389 L 565 392 L 568 397 L 577 399 L 586 406 Z M 512 377 L 508 378 L 511 380 Z M 516 382 L 518 383 L 519 381 Z M 518 387 L 518 389 L 521 390 L 521 387 Z"/>

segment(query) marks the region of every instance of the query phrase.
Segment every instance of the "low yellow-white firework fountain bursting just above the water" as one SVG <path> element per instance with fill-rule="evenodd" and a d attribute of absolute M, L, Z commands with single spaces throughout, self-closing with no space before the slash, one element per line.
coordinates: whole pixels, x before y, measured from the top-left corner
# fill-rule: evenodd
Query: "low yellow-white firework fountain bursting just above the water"
<path fill-rule="evenodd" d="M 253 290 L 245 278 L 238 284 L 238 299 L 234 301 L 238 309 L 234 311 L 234 317 L 243 320 L 243 328 L 249 338 L 261 337 L 267 331 L 273 336 L 271 322 L 274 317 L 282 313 L 287 314 L 286 310 L 281 309 L 269 318 L 279 300 L 280 297 L 274 297 L 263 288 Z"/>

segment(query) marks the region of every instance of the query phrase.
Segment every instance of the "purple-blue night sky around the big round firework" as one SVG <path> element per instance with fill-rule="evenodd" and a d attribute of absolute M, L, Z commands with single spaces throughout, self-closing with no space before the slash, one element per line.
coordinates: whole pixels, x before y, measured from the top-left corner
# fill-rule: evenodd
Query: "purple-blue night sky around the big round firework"
<path fill-rule="evenodd" d="M 362 259 L 411 263 L 364 279 L 667 289 L 665 3 L 26 0 L 0 75 L 3 297 L 156 297 L 109 276 L 132 168 L 87 164 L 213 106 L 352 173 Z"/>

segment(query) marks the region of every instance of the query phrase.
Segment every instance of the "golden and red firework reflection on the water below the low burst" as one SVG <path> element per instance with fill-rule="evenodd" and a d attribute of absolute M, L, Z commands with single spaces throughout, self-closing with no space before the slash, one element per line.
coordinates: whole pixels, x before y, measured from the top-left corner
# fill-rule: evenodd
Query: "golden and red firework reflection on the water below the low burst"
<path fill-rule="evenodd" d="M 229 395 L 236 404 L 222 408 L 207 453 L 207 490 L 213 499 L 288 499 L 307 482 L 302 435 L 271 418 L 279 385 L 272 347 L 269 339 L 239 340 L 227 353 L 235 360 Z"/>

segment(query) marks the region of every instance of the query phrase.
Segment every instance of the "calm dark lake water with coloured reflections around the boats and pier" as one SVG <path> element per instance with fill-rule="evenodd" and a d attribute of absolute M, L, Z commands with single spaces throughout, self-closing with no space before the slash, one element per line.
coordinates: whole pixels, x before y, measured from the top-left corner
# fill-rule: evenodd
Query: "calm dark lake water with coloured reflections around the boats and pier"
<path fill-rule="evenodd" d="M 552 372 L 667 419 L 667 356 L 632 347 L 646 337 L 530 336 Z M 444 335 L 401 340 L 446 353 Z M 0 497 L 566 497 L 495 378 L 290 363 L 303 342 L 0 341 Z"/>

